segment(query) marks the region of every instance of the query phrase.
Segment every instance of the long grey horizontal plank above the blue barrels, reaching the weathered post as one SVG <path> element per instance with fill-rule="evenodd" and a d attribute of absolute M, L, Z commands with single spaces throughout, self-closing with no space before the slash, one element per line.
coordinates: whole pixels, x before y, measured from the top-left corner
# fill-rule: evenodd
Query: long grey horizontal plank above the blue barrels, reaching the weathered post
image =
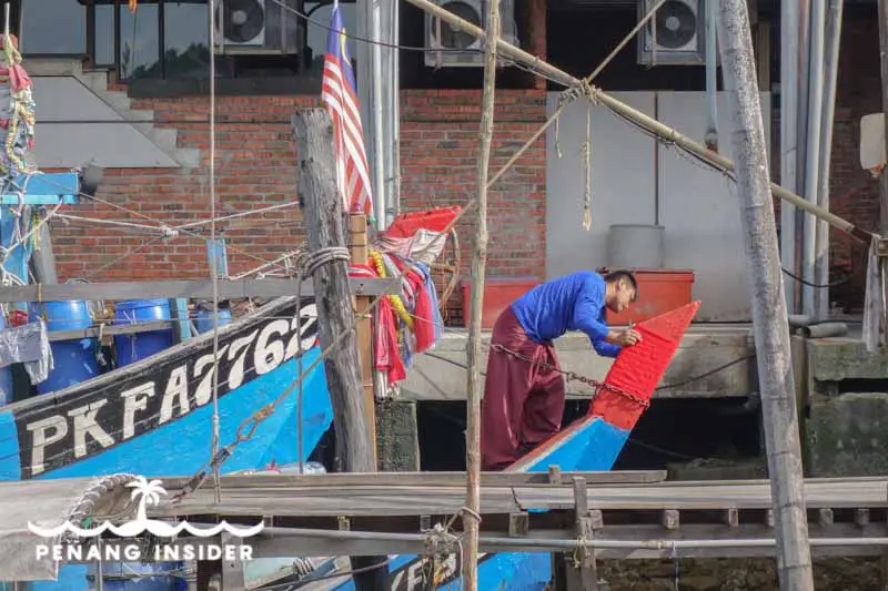
<path fill-rule="evenodd" d="M 219 299 L 243 297 L 281 297 L 296 293 L 297 279 L 220 279 Z M 351 278 L 352 294 L 380 295 L 385 293 L 391 282 L 375 278 Z M 311 281 L 302 284 L 302 295 L 314 296 Z M 174 299 L 212 298 L 213 284 L 210 279 L 180 279 L 163 282 L 109 282 L 109 283 L 67 283 L 58 285 L 24 285 L 0 287 L 0 302 L 67 302 L 71 299 Z"/>

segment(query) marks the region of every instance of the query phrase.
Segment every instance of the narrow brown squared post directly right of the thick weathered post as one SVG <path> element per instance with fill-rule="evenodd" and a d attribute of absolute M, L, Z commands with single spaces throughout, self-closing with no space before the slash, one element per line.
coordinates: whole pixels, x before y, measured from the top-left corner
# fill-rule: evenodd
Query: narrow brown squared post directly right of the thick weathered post
<path fill-rule="evenodd" d="M 351 214 L 349 216 L 349 251 L 353 264 L 366 265 L 370 256 L 366 215 Z M 370 308 L 370 296 L 353 296 L 352 300 L 355 314 L 366 314 Z M 357 320 L 357 356 L 361 363 L 361 387 L 364 391 L 364 414 L 370 429 L 373 466 L 379 467 L 376 458 L 376 397 L 373 393 L 373 326 L 370 317 Z"/>

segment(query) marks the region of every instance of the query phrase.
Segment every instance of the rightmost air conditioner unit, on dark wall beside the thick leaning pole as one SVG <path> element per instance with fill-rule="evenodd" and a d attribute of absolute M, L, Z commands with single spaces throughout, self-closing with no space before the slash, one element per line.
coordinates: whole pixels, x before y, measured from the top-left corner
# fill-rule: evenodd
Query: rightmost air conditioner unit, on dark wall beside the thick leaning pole
<path fill-rule="evenodd" d="M 706 62 L 706 0 L 667 0 L 638 35 L 638 63 L 700 65 Z M 657 0 L 638 0 L 638 19 Z"/>

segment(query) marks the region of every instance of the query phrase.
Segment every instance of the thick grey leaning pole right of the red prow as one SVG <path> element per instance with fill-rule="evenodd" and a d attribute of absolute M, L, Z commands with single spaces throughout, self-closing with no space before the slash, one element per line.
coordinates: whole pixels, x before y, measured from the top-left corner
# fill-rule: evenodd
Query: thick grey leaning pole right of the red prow
<path fill-rule="evenodd" d="M 728 99 L 734 122 L 734 166 L 753 292 L 753 320 L 768 473 L 777 526 L 780 589 L 813 591 L 789 326 L 786 299 L 783 297 L 783 273 L 769 191 L 756 61 L 745 0 L 720 2 L 718 32 L 725 86 L 730 89 Z"/>

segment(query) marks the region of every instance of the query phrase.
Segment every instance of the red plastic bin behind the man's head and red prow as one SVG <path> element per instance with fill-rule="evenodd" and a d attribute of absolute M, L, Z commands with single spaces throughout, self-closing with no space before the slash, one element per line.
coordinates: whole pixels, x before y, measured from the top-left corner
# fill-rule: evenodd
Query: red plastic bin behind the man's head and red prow
<path fill-rule="evenodd" d="M 666 314 L 693 302 L 694 272 L 688 269 L 638 268 L 630 269 L 638 282 L 638 299 L 627 310 L 614 314 L 607 310 L 607 324 L 626 326 Z M 599 268 L 602 275 L 607 268 Z"/>

